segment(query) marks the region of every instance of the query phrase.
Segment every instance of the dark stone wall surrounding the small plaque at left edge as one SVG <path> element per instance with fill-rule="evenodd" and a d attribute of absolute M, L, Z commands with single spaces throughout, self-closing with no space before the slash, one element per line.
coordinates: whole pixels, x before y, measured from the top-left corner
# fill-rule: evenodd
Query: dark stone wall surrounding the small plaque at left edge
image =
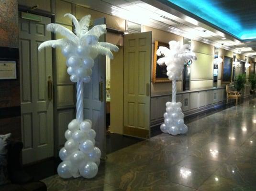
<path fill-rule="evenodd" d="M 0 2 L 0 58 L 16 60 L 17 79 L 0 80 L 0 134 L 21 140 L 19 27 L 17 0 Z"/>

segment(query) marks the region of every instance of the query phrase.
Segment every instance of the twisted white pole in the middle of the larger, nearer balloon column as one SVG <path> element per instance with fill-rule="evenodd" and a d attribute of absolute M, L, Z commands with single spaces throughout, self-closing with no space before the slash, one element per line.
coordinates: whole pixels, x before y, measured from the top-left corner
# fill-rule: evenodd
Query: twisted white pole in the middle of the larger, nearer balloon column
<path fill-rule="evenodd" d="M 77 120 L 81 123 L 84 120 L 84 83 L 82 79 L 77 82 Z"/>

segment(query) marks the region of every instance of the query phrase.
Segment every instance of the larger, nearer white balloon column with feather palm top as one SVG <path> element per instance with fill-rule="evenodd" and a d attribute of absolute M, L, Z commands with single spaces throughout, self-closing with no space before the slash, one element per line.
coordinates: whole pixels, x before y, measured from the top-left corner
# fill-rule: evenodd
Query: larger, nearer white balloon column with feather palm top
<path fill-rule="evenodd" d="M 93 178 L 98 173 L 100 165 L 100 149 L 95 147 L 96 132 L 92 129 L 92 122 L 84 120 L 83 116 L 83 83 L 88 83 L 92 74 L 91 68 L 98 54 L 107 55 L 111 59 L 111 51 L 118 51 L 118 47 L 107 42 L 98 42 L 102 34 L 106 33 L 106 25 L 96 25 L 89 30 L 90 15 L 83 17 L 79 22 L 75 16 L 65 14 L 72 19 L 75 33 L 67 28 L 51 23 L 47 30 L 58 32 L 66 39 L 46 41 L 40 44 L 38 50 L 52 46 L 61 47 L 62 54 L 67 58 L 67 73 L 70 80 L 77 83 L 77 115 L 68 124 L 65 132 L 67 139 L 65 147 L 60 149 L 59 157 L 63 160 L 57 172 L 62 178 Z"/>

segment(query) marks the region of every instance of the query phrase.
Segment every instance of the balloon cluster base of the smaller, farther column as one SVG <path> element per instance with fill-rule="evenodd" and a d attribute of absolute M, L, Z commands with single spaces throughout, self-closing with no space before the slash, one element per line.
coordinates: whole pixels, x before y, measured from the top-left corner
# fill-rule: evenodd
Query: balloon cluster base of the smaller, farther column
<path fill-rule="evenodd" d="M 163 133 L 178 135 L 188 132 L 188 127 L 184 124 L 184 114 L 182 113 L 181 106 L 181 102 L 166 103 L 165 122 L 160 126 Z"/>

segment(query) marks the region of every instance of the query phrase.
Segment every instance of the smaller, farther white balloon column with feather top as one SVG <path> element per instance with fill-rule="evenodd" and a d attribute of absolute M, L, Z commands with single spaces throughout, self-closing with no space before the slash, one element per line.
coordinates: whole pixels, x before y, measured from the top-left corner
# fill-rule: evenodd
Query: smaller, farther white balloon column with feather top
<path fill-rule="evenodd" d="M 184 124 L 184 114 L 181 112 L 182 104 L 176 103 L 177 80 L 182 74 L 184 63 L 192 63 L 196 60 L 194 53 L 190 52 L 189 45 L 182 45 L 182 42 L 170 41 L 169 47 L 160 46 L 156 51 L 158 56 L 164 57 L 157 60 L 157 64 L 167 65 L 167 76 L 172 80 L 172 102 L 166 103 L 166 113 L 164 114 L 165 122 L 160 126 L 164 133 L 171 135 L 184 134 L 188 127 Z"/>

